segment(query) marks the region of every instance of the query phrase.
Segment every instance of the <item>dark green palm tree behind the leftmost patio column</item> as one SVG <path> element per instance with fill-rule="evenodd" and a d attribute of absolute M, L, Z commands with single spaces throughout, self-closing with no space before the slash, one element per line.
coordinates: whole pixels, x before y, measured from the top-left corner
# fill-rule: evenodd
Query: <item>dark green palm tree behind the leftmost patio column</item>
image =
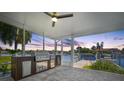
<path fill-rule="evenodd" d="M 0 40 L 4 44 L 12 46 L 15 43 L 15 50 L 17 50 L 18 44 L 22 44 L 23 30 L 6 23 L 0 22 Z M 25 44 L 31 42 L 32 34 L 25 31 Z"/>

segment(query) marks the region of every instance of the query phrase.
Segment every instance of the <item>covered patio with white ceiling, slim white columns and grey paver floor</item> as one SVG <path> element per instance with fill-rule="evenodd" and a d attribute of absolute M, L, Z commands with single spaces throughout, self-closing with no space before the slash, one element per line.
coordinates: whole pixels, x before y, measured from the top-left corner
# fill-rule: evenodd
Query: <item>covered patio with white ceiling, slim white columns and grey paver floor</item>
<path fill-rule="evenodd" d="M 64 15 L 68 13 L 62 12 L 58 14 Z M 61 41 L 61 57 L 63 56 L 63 39 L 71 39 L 71 63 L 69 66 L 58 66 L 22 80 L 124 80 L 124 75 L 73 68 L 75 55 L 74 38 L 124 29 L 124 13 L 74 12 L 73 17 L 58 20 L 55 27 L 51 26 L 51 18 L 43 12 L 0 13 L 0 21 L 23 29 L 23 57 L 26 56 L 26 30 L 43 36 L 43 51 L 45 51 L 44 37 L 55 40 L 55 55 L 57 52 L 57 41 Z"/>

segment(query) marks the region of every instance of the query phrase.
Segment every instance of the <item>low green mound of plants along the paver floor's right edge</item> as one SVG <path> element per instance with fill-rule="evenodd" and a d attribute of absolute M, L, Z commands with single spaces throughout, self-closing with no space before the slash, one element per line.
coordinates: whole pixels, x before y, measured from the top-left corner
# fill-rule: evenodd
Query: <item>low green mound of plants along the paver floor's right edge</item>
<path fill-rule="evenodd" d="M 124 68 L 114 64 L 113 62 L 109 60 L 98 60 L 92 65 L 84 66 L 83 68 L 124 74 Z"/>

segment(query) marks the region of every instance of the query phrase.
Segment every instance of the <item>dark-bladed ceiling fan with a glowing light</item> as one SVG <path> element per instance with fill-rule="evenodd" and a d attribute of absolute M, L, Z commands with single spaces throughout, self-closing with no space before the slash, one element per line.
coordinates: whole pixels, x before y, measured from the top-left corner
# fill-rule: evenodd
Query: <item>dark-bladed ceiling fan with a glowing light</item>
<path fill-rule="evenodd" d="M 44 12 L 44 13 L 52 18 L 52 27 L 55 26 L 55 23 L 57 22 L 58 19 L 73 17 L 73 14 L 58 15 L 57 12 L 53 12 L 53 13 Z"/>

